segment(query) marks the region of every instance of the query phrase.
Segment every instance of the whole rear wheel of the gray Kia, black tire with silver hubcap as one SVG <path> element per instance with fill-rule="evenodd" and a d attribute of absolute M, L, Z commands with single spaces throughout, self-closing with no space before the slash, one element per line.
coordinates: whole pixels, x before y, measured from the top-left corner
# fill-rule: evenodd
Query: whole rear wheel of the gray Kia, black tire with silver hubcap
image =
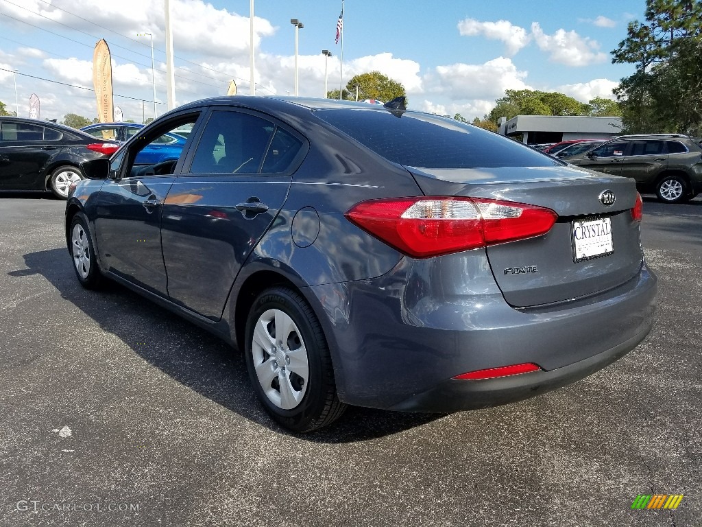
<path fill-rule="evenodd" d="M 246 320 L 244 358 L 256 396 L 282 427 L 309 432 L 343 414 L 322 326 L 293 289 L 258 295 Z"/>

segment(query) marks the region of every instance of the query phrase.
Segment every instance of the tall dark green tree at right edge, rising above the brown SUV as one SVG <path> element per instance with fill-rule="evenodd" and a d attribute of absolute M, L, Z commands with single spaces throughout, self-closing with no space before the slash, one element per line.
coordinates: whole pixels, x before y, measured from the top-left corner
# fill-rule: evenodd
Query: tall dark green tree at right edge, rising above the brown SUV
<path fill-rule="evenodd" d="M 628 26 L 613 63 L 636 71 L 614 91 L 625 132 L 702 133 L 702 1 L 647 0 L 645 21 Z"/>

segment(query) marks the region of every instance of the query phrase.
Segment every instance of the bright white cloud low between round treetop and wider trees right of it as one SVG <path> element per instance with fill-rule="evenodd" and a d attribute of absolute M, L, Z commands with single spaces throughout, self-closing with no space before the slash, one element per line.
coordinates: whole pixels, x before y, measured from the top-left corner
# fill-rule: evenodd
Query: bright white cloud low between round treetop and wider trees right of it
<path fill-rule="evenodd" d="M 506 89 L 526 89 L 527 72 L 517 70 L 509 58 L 498 57 L 484 64 L 437 66 L 425 79 L 427 91 L 451 100 L 494 100 Z"/>

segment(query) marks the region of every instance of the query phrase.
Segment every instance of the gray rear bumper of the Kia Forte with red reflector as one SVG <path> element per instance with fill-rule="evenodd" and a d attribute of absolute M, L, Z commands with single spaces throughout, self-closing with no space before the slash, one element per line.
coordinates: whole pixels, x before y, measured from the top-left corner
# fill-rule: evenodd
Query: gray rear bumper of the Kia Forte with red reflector
<path fill-rule="evenodd" d="M 484 253 L 473 251 L 403 259 L 380 278 L 305 289 L 329 341 L 341 401 L 451 412 L 519 401 L 614 362 L 651 330 L 657 280 L 642 265 L 606 292 L 515 309 L 496 286 Z M 519 363 L 543 371 L 453 380 Z"/>

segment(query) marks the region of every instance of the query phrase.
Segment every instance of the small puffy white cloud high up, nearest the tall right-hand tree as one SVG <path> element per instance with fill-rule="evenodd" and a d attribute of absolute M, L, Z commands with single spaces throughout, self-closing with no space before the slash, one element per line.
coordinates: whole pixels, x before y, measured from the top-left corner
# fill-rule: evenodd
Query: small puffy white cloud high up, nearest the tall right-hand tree
<path fill-rule="evenodd" d="M 598 51 L 600 44 L 574 31 L 557 30 L 545 34 L 538 22 L 531 24 L 531 34 L 541 49 L 550 53 L 549 59 L 567 66 L 588 66 L 607 61 L 607 54 Z"/>

